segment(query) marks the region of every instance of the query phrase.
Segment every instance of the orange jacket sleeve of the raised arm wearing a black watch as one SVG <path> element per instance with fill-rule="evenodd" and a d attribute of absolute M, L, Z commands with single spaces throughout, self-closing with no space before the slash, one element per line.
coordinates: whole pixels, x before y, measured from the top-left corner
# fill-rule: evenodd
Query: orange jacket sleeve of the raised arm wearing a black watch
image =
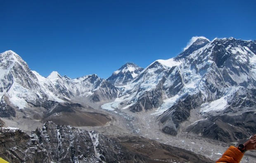
<path fill-rule="evenodd" d="M 216 163 L 239 163 L 244 153 L 239 151 L 235 146 L 230 146 Z"/>

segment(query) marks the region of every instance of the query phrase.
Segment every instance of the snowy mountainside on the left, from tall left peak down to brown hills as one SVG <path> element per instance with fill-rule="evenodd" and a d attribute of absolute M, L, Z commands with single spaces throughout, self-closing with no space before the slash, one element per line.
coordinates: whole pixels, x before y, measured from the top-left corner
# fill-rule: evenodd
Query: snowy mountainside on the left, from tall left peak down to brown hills
<path fill-rule="evenodd" d="M 46 112 L 57 105 L 69 106 L 73 97 L 88 97 L 92 102 L 117 97 L 119 90 L 97 75 L 77 79 L 52 72 L 47 78 L 31 71 L 12 51 L 0 54 L 0 116 L 15 117 L 17 109 L 42 107 Z"/>

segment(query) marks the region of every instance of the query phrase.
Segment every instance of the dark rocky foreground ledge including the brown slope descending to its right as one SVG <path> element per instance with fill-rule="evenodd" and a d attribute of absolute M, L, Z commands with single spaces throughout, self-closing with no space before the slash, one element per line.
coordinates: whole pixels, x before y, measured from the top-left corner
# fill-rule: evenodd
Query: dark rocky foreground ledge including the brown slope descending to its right
<path fill-rule="evenodd" d="M 133 148 L 134 143 L 142 144 L 142 148 Z M 153 144 L 138 137 L 111 139 L 52 121 L 32 131 L 31 136 L 17 128 L 0 128 L 0 157 L 11 163 L 213 162 L 184 149 Z"/>

